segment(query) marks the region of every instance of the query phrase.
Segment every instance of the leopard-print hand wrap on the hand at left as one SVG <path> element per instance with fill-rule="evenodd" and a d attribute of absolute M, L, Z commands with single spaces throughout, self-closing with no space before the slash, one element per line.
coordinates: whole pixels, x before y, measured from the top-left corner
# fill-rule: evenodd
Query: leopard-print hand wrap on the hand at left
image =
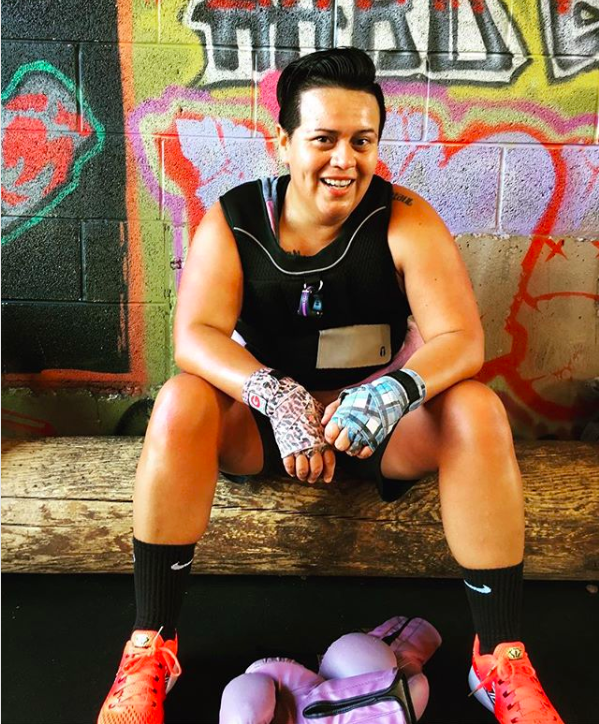
<path fill-rule="evenodd" d="M 324 406 L 291 377 L 264 367 L 246 380 L 243 401 L 269 418 L 282 458 L 309 458 L 328 447 L 321 424 Z"/>

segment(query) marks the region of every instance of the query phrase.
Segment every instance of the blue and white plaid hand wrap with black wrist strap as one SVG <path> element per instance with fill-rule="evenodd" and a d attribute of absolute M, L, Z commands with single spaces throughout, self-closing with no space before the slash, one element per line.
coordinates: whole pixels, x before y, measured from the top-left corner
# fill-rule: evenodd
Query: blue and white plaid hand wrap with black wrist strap
<path fill-rule="evenodd" d="M 341 404 L 331 422 L 337 423 L 341 430 L 347 428 L 350 442 L 348 452 L 358 453 L 363 447 L 369 447 L 374 452 L 391 434 L 406 411 L 422 404 L 426 395 L 424 381 L 412 370 L 404 369 L 396 374 L 406 373 L 416 383 L 416 387 L 410 384 L 412 391 L 417 389 L 414 399 L 410 399 L 401 382 L 390 376 L 343 390 L 339 395 Z"/>

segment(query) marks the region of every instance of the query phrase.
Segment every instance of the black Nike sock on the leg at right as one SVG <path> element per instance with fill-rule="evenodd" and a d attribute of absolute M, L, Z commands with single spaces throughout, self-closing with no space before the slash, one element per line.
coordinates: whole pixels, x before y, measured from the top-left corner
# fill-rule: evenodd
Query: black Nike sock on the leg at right
<path fill-rule="evenodd" d="M 492 653 L 499 643 L 520 640 L 523 567 L 462 568 L 481 654 Z"/>

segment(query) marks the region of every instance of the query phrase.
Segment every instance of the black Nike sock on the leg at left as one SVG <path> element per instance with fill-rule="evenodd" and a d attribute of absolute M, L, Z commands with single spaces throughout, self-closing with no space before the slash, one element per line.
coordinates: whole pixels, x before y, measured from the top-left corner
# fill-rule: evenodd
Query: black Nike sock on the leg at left
<path fill-rule="evenodd" d="M 143 543 L 133 538 L 135 629 L 158 631 L 166 639 L 175 637 L 177 620 L 195 543 L 188 545 L 159 545 Z"/>

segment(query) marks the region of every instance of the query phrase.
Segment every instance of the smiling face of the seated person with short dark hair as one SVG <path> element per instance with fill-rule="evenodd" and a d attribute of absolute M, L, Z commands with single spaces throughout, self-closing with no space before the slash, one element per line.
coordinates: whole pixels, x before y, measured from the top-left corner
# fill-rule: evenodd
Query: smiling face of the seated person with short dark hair
<path fill-rule="evenodd" d="M 281 160 L 291 175 L 288 198 L 316 223 L 343 222 L 362 200 L 378 162 L 376 98 L 313 88 L 301 95 L 300 118 L 291 138 L 277 129 Z"/>

